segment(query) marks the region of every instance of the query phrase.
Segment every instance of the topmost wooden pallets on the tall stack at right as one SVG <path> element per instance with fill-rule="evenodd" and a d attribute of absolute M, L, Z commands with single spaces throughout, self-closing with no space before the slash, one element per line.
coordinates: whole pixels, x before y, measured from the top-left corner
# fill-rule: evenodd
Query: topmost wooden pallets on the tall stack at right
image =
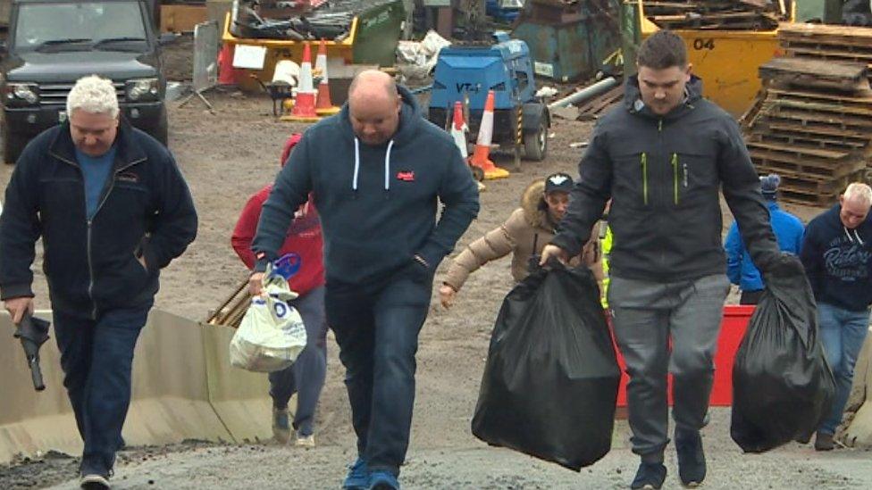
<path fill-rule="evenodd" d="M 778 29 L 784 54 L 837 62 L 865 63 L 872 69 L 872 29 L 821 24 L 785 24 Z M 872 74 L 872 71 L 870 71 Z"/>

